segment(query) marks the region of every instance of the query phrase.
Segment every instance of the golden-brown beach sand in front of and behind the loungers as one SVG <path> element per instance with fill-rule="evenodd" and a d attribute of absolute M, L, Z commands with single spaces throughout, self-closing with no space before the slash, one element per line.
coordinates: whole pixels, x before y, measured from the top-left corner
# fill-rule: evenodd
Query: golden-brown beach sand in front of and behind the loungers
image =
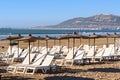
<path fill-rule="evenodd" d="M 70 47 L 72 47 L 72 41 L 70 39 Z M 80 39 L 76 39 L 75 46 L 80 45 Z M 88 39 L 82 39 L 81 44 L 88 44 Z M 48 41 L 49 47 L 54 45 L 54 40 Z M 109 39 L 109 44 L 113 43 L 113 38 Z M 8 48 L 9 41 L 1 41 L 0 45 L 5 46 L 5 51 Z M 106 38 L 96 39 L 96 45 L 102 47 L 106 44 Z M 37 46 L 37 41 L 32 42 L 31 45 Z M 45 46 L 45 41 L 40 41 L 41 46 Z M 59 45 L 59 41 L 55 41 L 55 45 Z M 67 40 L 62 40 L 61 45 L 68 45 Z M 91 39 L 91 45 L 93 45 L 93 39 Z M 28 47 L 27 42 L 20 42 L 21 48 Z M 11 74 L 6 72 L 6 68 L 9 64 L 0 62 L 0 73 L 2 80 L 120 80 L 120 61 L 109 61 L 97 64 L 88 65 L 73 65 L 72 67 L 62 67 L 57 72 L 50 72 L 47 74 L 36 73 L 34 75 L 26 74 Z"/>

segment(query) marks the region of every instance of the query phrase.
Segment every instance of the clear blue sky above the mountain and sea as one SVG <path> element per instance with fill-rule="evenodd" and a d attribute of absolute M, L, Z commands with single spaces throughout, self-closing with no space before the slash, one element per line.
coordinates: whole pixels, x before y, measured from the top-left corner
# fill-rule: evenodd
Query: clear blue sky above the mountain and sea
<path fill-rule="evenodd" d="M 96 14 L 120 16 L 120 0 L 0 0 L 0 28 L 56 25 Z"/>

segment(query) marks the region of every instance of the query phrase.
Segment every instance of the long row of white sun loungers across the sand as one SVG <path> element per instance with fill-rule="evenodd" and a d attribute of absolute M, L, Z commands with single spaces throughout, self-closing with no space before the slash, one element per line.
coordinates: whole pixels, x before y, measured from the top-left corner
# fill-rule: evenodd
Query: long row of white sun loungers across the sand
<path fill-rule="evenodd" d="M 91 60 L 109 60 L 118 58 L 120 55 L 119 48 L 114 47 L 112 44 L 109 47 L 103 46 L 98 49 L 96 46 L 88 45 L 84 45 L 82 49 L 81 47 L 81 45 L 79 48 L 68 48 L 67 46 L 61 48 L 61 46 L 54 46 L 52 49 L 47 49 L 46 47 L 39 47 L 41 48 L 39 52 L 37 50 L 38 47 L 31 48 L 31 64 L 28 63 L 28 49 L 25 49 L 23 52 L 26 52 L 26 56 L 23 62 L 21 64 L 8 66 L 7 71 L 11 73 L 34 74 L 40 69 L 43 73 L 46 73 L 49 69 L 56 69 L 58 66 L 72 66 L 74 62 L 80 64 Z"/>

